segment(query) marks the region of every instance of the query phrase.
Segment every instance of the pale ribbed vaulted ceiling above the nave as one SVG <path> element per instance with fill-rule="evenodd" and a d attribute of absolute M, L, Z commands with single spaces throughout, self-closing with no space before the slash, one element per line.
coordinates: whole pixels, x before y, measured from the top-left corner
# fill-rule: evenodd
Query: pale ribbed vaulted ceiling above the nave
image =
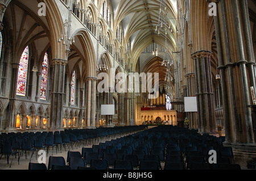
<path fill-rule="evenodd" d="M 167 18 L 169 19 L 174 32 L 177 27 L 177 0 L 164 0 L 167 6 Z M 158 25 L 159 0 L 112 0 L 114 11 L 115 25 L 122 23 L 125 44 L 131 41 L 131 53 L 133 61 L 137 61 L 139 54 L 149 44 L 155 43 L 165 45 L 165 33 L 158 35 L 155 28 Z M 116 27 L 115 27 L 116 28 Z M 175 45 L 177 41 L 176 33 L 168 32 L 167 36 L 168 48 L 176 50 Z M 135 64 L 135 62 L 133 62 Z"/>

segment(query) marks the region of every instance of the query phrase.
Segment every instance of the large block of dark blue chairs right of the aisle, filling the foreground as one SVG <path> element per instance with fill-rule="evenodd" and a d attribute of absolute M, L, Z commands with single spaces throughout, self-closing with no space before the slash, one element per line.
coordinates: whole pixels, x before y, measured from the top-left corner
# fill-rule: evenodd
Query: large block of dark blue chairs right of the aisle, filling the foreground
<path fill-rule="evenodd" d="M 141 132 L 94 144 L 92 148 L 82 148 L 81 153 L 69 151 L 67 164 L 63 165 L 62 169 L 241 169 L 239 165 L 230 162 L 228 156 L 233 157 L 233 151 L 222 145 L 224 140 L 209 134 L 201 135 L 196 130 L 172 126 L 144 129 Z M 204 146 L 200 147 L 202 144 Z M 176 150 L 172 150 L 174 148 Z M 204 148 L 205 153 L 209 148 L 220 150 L 217 164 L 210 165 L 207 162 L 207 157 L 201 152 Z M 159 153 L 162 153 L 162 159 Z M 125 165 L 117 166 L 117 163 L 121 162 Z M 51 169 L 49 166 L 48 168 Z"/>

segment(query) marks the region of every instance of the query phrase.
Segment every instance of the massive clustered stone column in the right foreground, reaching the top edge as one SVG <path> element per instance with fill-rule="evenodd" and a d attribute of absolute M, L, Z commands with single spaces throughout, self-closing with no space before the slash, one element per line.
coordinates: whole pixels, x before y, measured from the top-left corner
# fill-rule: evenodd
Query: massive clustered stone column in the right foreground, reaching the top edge
<path fill-rule="evenodd" d="M 251 102 L 250 86 L 255 86 L 251 32 L 245 27 L 249 25 L 247 1 L 220 0 L 217 3 L 218 14 L 214 16 L 214 25 L 226 142 L 254 144 L 251 110 L 247 107 Z"/>

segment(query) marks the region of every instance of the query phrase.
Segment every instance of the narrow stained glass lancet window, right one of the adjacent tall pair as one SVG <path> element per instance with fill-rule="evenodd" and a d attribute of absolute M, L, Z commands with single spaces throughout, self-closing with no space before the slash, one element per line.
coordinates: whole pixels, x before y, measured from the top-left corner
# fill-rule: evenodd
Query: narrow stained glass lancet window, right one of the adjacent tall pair
<path fill-rule="evenodd" d="M 40 98 L 46 100 L 47 81 L 48 81 L 48 54 L 44 54 L 44 61 L 42 65 L 42 81 L 41 81 L 41 95 Z"/>

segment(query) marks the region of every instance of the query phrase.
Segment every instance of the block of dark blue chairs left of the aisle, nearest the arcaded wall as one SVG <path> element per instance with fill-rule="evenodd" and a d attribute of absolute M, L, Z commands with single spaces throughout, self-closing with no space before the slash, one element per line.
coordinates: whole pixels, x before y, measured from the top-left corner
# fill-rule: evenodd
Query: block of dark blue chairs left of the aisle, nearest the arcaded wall
<path fill-rule="evenodd" d="M 106 139 L 118 135 L 125 135 L 127 133 L 138 132 L 146 129 L 146 126 L 130 126 L 130 127 L 114 127 L 114 128 L 97 128 L 97 129 L 65 129 L 65 131 L 56 132 L 24 132 L 24 133 L 2 133 L 0 134 L 0 159 L 3 155 L 7 157 L 9 164 L 9 157 L 18 154 L 18 163 L 20 157 L 31 153 L 30 161 L 35 151 L 57 150 L 64 148 L 72 148 L 73 146 L 91 144 L 100 139 Z M 35 154 L 37 157 L 37 154 Z M 11 163 L 13 162 L 13 159 Z M 11 164 L 10 164 L 11 167 Z"/>

